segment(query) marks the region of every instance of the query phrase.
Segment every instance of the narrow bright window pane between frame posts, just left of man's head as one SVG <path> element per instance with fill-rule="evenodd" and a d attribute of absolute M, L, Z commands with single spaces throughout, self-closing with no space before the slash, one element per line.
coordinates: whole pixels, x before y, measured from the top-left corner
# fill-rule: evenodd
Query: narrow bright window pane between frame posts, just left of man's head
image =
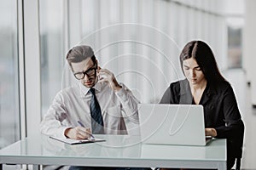
<path fill-rule="evenodd" d="M 39 1 L 43 115 L 55 94 L 61 90 L 62 70 L 65 61 L 65 54 L 63 53 L 63 2 L 62 0 Z"/>

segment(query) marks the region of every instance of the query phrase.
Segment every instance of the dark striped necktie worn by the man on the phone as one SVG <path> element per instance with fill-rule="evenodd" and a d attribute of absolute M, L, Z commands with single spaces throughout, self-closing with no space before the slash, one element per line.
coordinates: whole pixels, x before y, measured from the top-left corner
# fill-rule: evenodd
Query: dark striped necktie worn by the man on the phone
<path fill-rule="evenodd" d="M 95 88 L 90 88 L 90 94 L 91 131 L 94 134 L 103 134 L 104 125 L 102 119 L 102 111 L 99 102 L 96 99 Z"/>

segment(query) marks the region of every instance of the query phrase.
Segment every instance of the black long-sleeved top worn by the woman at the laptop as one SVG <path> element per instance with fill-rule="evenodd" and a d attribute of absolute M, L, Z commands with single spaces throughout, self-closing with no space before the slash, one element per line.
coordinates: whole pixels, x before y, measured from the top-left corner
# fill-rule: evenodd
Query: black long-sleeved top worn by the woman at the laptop
<path fill-rule="evenodd" d="M 160 100 L 160 104 L 195 105 L 189 81 L 187 79 L 172 82 Z M 203 105 L 205 127 L 213 127 L 217 138 L 232 138 L 237 130 L 243 128 L 236 97 L 229 82 L 208 83 L 201 96 L 199 105 Z"/>

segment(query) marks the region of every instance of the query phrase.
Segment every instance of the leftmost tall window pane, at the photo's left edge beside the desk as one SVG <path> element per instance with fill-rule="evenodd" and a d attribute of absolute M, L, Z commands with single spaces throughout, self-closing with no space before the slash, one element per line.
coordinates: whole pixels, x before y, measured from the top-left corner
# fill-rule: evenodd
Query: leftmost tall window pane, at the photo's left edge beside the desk
<path fill-rule="evenodd" d="M 0 2 L 0 149 L 20 139 L 17 1 Z"/>

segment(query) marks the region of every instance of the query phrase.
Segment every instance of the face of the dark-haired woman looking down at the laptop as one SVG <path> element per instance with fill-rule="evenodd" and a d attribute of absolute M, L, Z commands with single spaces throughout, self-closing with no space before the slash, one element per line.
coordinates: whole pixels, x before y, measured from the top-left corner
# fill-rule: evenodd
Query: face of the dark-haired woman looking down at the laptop
<path fill-rule="evenodd" d="M 199 85 L 202 82 L 207 81 L 204 73 L 201 71 L 200 66 L 193 57 L 183 60 L 183 71 L 185 77 L 192 85 Z"/>

